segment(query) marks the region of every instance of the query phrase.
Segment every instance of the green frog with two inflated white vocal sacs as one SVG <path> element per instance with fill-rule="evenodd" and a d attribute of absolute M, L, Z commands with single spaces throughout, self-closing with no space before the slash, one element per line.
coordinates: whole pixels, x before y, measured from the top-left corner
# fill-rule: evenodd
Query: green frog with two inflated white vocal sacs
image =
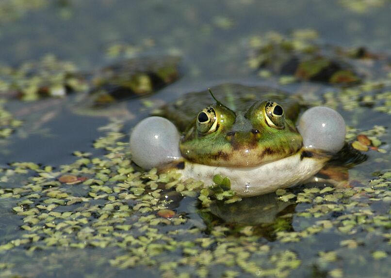
<path fill-rule="evenodd" d="M 298 185 L 342 149 L 345 136 L 335 110 L 310 108 L 297 124 L 300 108 L 297 96 L 262 86 L 226 83 L 186 94 L 134 127 L 132 160 L 205 185 L 226 176 L 240 197 Z"/>

